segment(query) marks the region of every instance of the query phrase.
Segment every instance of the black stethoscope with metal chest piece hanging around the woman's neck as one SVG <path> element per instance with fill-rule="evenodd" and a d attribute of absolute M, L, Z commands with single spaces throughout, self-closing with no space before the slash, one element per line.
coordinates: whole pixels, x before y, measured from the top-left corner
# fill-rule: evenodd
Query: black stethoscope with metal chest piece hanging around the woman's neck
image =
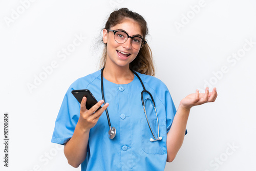
<path fill-rule="evenodd" d="M 102 99 L 103 99 L 104 104 L 105 104 L 104 91 L 103 91 L 103 70 L 104 70 L 104 67 L 101 69 L 101 95 L 102 95 Z M 152 135 L 153 135 L 153 137 L 154 137 L 154 139 L 151 138 L 150 141 L 153 142 L 153 141 L 161 140 L 162 137 L 159 137 L 159 121 L 158 121 L 158 117 L 157 117 L 157 110 L 156 110 L 156 105 L 155 105 L 154 98 L 153 98 L 153 96 L 151 95 L 151 93 L 148 92 L 148 91 L 145 89 L 144 84 L 143 84 L 142 80 L 140 79 L 139 75 L 138 75 L 135 71 L 133 71 L 133 70 L 131 70 L 131 71 L 139 78 L 140 83 L 141 83 L 141 85 L 142 85 L 142 87 L 143 87 L 143 91 L 141 92 L 141 102 L 142 102 L 142 105 L 143 105 L 143 110 L 144 110 L 144 113 L 145 113 L 145 116 L 146 116 L 147 124 L 148 124 L 148 126 L 150 127 L 150 131 L 151 131 L 151 133 L 152 133 Z M 152 129 L 151 129 L 150 122 L 148 122 L 148 119 L 147 119 L 145 104 L 144 104 L 144 100 L 143 100 L 143 93 L 147 93 L 147 94 L 150 95 L 151 100 L 152 100 L 153 105 L 154 105 L 154 109 L 155 109 L 155 113 L 156 113 L 156 117 L 157 117 L 157 129 L 158 129 L 157 138 L 155 137 L 155 135 L 154 135 L 154 133 L 153 133 L 153 131 L 152 131 Z M 116 129 L 115 129 L 114 126 L 111 126 L 108 109 L 106 109 L 105 111 L 106 111 L 106 117 L 108 118 L 109 127 L 110 127 L 110 130 L 109 130 L 109 138 L 110 138 L 110 139 L 113 139 L 113 138 L 115 138 L 115 136 L 116 136 Z"/>

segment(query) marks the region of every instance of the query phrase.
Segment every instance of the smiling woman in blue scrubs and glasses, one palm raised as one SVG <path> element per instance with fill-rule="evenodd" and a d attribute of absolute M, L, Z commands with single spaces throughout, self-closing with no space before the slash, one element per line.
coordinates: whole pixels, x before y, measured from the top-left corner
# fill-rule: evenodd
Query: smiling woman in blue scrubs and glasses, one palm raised
<path fill-rule="evenodd" d="M 152 76 L 146 35 L 141 15 L 127 8 L 111 13 L 103 29 L 102 70 L 71 84 L 56 119 L 52 142 L 65 144 L 70 165 L 81 164 L 81 170 L 164 170 L 182 145 L 190 108 L 217 98 L 216 88 L 211 93 L 208 88 L 205 93 L 197 90 L 181 100 L 176 112 L 167 87 Z M 101 82 L 106 103 L 96 111 L 103 104 Z M 143 93 L 141 99 L 143 87 L 152 94 L 156 111 L 150 94 Z M 80 89 L 89 89 L 99 100 L 90 110 L 86 97 L 79 104 L 71 94 Z M 106 109 L 116 129 L 113 139 L 108 138 L 108 118 L 102 115 Z"/>

